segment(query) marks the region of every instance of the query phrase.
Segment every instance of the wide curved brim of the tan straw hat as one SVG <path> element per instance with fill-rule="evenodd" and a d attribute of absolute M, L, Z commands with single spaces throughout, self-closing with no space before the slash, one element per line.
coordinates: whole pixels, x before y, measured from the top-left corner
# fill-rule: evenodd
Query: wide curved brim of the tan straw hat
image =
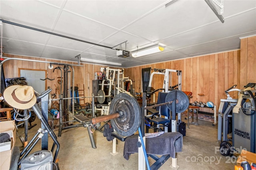
<path fill-rule="evenodd" d="M 20 85 L 13 85 L 13 86 L 9 86 L 8 88 L 6 88 L 4 90 L 4 100 L 12 107 L 16 108 L 16 109 L 29 109 L 32 106 L 34 106 L 34 104 L 36 104 L 36 96 L 34 95 L 33 98 L 30 100 L 30 102 L 26 103 L 26 104 L 20 104 L 18 102 L 16 102 L 13 98 L 12 98 L 12 92 L 13 90 L 15 90 L 16 88 L 21 87 Z"/>

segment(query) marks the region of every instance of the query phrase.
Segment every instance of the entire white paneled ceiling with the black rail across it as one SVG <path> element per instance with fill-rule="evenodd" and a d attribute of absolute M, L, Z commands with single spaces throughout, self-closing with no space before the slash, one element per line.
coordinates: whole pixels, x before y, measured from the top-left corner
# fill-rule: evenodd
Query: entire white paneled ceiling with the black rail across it
<path fill-rule="evenodd" d="M 256 0 L 224 0 L 224 23 L 204 0 L 170 1 L 0 0 L 3 51 L 74 62 L 80 55 L 126 68 L 240 49 L 239 37 L 256 35 Z M 116 56 L 115 49 L 153 44 L 166 47 Z"/>

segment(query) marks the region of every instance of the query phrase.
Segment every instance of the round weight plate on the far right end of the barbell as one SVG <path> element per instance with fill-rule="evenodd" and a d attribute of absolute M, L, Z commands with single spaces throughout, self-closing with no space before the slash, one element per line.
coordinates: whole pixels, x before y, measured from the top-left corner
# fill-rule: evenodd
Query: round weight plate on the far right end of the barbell
<path fill-rule="evenodd" d="M 165 98 L 165 102 L 175 101 L 175 112 L 181 113 L 188 109 L 189 100 L 188 96 L 180 90 L 170 91 Z M 167 104 L 168 108 L 172 111 L 172 104 Z"/>

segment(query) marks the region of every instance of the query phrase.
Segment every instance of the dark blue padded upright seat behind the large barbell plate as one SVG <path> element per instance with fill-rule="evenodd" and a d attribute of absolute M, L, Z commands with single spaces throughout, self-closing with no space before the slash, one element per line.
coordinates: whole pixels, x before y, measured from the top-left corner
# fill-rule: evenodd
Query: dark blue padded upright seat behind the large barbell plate
<path fill-rule="evenodd" d="M 165 103 L 165 98 L 167 94 L 167 92 L 159 92 L 157 104 Z M 168 108 L 168 106 L 158 106 L 156 107 L 155 111 L 152 111 L 152 109 L 148 109 L 147 111 L 153 114 L 152 119 L 146 119 L 147 121 L 150 121 L 150 125 L 152 125 L 150 127 L 148 125 L 146 126 L 146 133 L 148 133 L 148 129 L 152 127 L 154 128 L 154 132 L 165 131 L 165 127 L 168 127 L 170 123 L 170 109 Z M 156 115 L 157 113 L 158 115 Z M 166 118 L 162 116 L 165 116 Z M 148 118 L 149 116 L 146 117 Z"/>

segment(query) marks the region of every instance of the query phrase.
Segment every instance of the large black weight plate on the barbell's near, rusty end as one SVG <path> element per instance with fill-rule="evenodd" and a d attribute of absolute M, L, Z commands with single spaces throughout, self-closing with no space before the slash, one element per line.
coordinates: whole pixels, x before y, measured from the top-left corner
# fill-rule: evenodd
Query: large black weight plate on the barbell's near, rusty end
<path fill-rule="evenodd" d="M 136 133 L 142 119 L 138 101 L 131 94 L 117 94 L 110 103 L 109 114 L 119 112 L 124 115 L 110 120 L 116 132 L 121 136 L 131 136 Z"/>

